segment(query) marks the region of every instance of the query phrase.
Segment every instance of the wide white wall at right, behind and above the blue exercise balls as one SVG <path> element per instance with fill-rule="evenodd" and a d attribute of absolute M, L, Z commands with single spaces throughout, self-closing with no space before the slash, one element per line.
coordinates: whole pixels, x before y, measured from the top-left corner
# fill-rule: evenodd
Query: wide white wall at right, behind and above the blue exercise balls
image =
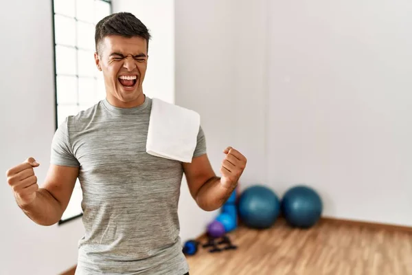
<path fill-rule="evenodd" d="M 268 179 L 412 225 L 412 3 L 270 1 Z"/>

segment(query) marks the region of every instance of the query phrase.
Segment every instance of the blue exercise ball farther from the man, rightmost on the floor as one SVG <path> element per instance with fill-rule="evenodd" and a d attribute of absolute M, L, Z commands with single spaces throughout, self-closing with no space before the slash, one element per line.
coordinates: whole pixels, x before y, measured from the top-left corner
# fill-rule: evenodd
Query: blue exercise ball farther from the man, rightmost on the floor
<path fill-rule="evenodd" d="M 295 186 L 286 191 L 281 210 L 286 221 L 297 228 L 310 228 L 321 218 L 322 201 L 308 186 Z"/>

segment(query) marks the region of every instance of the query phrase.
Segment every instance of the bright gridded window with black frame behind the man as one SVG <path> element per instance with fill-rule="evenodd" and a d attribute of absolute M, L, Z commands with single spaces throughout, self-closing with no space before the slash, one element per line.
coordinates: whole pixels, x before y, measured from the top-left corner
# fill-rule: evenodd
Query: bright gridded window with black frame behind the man
<path fill-rule="evenodd" d="M 56 128 L 67 115 L 91 107 L 105 96 L 103 76 L 95 67 L 95 24 L 111 14 L 111 1 L 52 0 L 56 73 Z M 80 217 L 79 182 L 59 223 Z"/>

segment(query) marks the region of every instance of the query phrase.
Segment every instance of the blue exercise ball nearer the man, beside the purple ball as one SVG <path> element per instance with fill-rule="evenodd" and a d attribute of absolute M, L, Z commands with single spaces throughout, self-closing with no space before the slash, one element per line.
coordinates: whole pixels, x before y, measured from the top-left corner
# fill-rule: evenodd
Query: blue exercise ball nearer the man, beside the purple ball
<path fill-rule="evenodd" d="M 280 212 L 280 203 L 273 190 L 256 185 L 245 189 L 239 197 L 239 217 L 249 228 L 270 228 Z"/>

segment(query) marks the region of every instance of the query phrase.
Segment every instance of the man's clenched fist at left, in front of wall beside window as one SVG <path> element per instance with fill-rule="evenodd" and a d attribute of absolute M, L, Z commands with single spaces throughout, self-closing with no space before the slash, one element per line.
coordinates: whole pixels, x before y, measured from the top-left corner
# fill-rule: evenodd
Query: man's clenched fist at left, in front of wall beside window
<path fill-rule="evenodd" d="M 33 157 L 29 157 L 6 173 L 7 182 L 13 189 L 17 203 L 21 206 L 30 204 L 36 198 L 38 184 L 33 168 L 39 165 Z"/>

